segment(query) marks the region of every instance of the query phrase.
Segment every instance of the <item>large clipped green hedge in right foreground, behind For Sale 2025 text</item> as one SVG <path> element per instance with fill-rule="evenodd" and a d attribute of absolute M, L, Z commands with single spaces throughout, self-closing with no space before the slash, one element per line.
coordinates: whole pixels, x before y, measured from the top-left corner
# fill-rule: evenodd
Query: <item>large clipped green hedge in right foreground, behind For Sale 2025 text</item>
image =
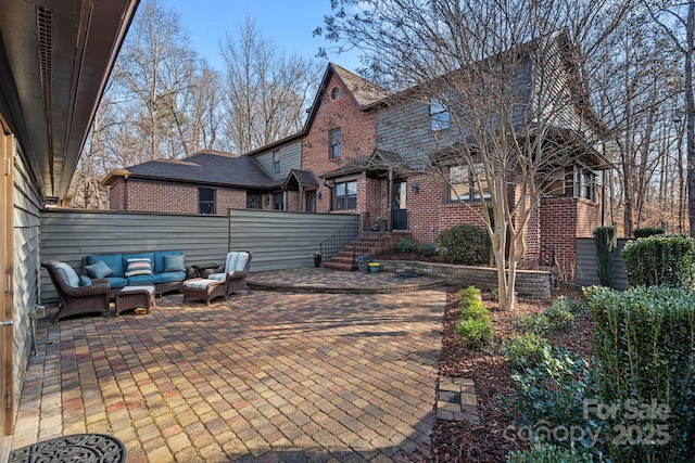
<path fill-rule="evenodd" d="M 601 403 L 619 407 L 605 416 L 611 460 L 695 461 L 686 445 L 695 440 L 695 292 L 592 287 L 585 295 L 596 322 Z M 645 414 L 632 413 L 628 404 Z M 662 412 L 648 412 L 655 409 Z M 653 445 L 634 445 L 643 438 Z"/>

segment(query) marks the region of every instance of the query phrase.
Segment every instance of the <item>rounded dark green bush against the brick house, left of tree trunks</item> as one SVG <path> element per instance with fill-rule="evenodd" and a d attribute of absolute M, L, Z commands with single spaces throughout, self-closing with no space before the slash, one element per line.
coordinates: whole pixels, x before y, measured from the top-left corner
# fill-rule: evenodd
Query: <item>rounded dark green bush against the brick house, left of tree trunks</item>
<path fill-rule="evenodd" d="M 442 253 L 444 262 L 466 266 L 490 262 L 492 246 L 488 232 L 471 224 L 443 230 L 438 243 L 440 248 L 446 248 L 446 253 Z"/>

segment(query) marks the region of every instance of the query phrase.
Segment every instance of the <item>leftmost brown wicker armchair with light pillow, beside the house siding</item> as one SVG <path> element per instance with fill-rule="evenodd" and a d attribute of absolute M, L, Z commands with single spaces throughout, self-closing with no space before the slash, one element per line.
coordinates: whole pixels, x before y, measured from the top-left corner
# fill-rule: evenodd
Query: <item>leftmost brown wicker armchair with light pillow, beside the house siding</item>
<path fill-rule="evenodd" d="M 53 321 L 83 313 L 109 316 L 109 292 L 111 286 L 109 286 L 106 280 L 91 280 L 91 285 L 79 286 L 79 284 L 75 285 L 74 281 L 68 282 L 65 269 L 72 270 L 70 266 L 50 260 L 41 262 L 41 267 L 48 270 L 48 274 L 51 276 L 53 286 L 55 286 L 60 297 L 60 308 Z M 70 270 L 67 271 L 70 272 Z"/>

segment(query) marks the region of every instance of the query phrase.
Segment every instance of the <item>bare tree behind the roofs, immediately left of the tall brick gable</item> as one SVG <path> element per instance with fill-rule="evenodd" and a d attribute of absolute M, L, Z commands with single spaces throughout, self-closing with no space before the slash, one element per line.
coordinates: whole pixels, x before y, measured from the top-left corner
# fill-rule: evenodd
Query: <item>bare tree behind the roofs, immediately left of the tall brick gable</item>
<path fill-rule="evenodd" d="M 220 43 L 226 63 L 228 149 L 247 153 L 302 127 L 319 78 L 318 63 L 287 55 L 247 16 Z"/>

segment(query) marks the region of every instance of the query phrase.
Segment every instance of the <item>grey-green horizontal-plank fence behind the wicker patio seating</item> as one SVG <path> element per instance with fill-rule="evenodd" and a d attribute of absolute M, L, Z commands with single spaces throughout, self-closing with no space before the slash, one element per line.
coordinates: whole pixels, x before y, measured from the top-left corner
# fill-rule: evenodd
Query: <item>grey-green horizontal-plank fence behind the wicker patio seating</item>
<path fill-rule="evenodd" d="M 224 263 L 228 250 L 251 250 L 251 271 L 313 266 L 312 253 L 354 215 L 231 209 L 228 216 L 189 216 L 45 209 L 40 260 L 62 260 L 77 272 L 88 254 L 180 249 L 186 265 Z M 58 300 L 41 269 L 41 300 Z"/>

